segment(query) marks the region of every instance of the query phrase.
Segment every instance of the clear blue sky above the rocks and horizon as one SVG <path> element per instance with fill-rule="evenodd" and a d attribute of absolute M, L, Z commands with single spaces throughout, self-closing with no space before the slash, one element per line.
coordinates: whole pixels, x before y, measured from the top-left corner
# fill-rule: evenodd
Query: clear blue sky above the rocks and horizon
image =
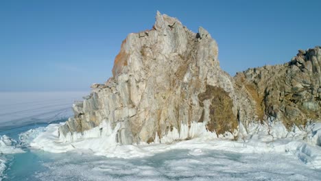
<path fill-rule="evenodd" d="M 207 29 L 222 69 L 280 64 L 321 45 L 321 1 L 0 1 L 0 91 L 89 90 L 156 10 Z"/>

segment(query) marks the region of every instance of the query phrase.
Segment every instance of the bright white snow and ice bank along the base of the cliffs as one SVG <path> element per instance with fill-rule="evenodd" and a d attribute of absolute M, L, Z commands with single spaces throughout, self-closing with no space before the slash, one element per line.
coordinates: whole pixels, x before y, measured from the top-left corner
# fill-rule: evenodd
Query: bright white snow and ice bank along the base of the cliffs
<path fill-rule="evenodd" d="M 95 155 L 116 158 L 153 156 L 154 154 L 167 152 L 171 149 L 189 149 L 191 150 L 189 152 L 191 155 L 200 155 L 203 149 L 246 154 L 291 154 L 309 167 L 321 169 L 321 147 L 316 146 L 320 143 L 320 137 L 318 137 L 321 135 L 320 123 L 309 125 L 306 130 L 294 128 L 292 132 L 287 132 L 284 125 L 278 122 L 270 125 L 252 123 L 248 128 L 248 132 L 240 131 L 243 139 L 239 138 L 238 141 L 229 141 L 222 138 L 222 136 L 217 138 L 205 132 L 205 134 L 187 141 L 174 141 L 171 144 L 141 143 L 139 145 L 120 145 L 117 143 L 118 125 L 112 130 L 105 123 L 105 125 L 101 125 L 101 128 L 91 130 L 91 133 L 79 133 L 73 139 L 75 141 L 59 138 L 59 125 L 48 125 L 44 132 L 38 133 L 38 136 L 30 143 L 30 146 L 34 149 L 43 149 L 46 152 L 53 153 L 84 152 L 84 150 L 90 150 Z M 97 132 L 101 134 L 97 134 Z M 170 135 L 172 134 L 170 133 Z M 171 136 L 171 138 L 177 136 L 179 135 Z M 167 136 L 167 138 L 169 137 Z M 305 138 L 306 141 L 303 141 L 302 138 Z"/>

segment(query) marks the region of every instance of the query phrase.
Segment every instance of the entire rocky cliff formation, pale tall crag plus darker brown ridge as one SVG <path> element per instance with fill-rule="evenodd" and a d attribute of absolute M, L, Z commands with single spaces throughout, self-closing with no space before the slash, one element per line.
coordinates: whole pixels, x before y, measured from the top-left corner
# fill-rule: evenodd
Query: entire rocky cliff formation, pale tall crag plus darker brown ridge
<path fill-rule="evenodd" d="M 75 116 L 60 126 L 60 137 L 75 141 L 77 133 L 108 123 L 117 127 L 118 143 L 168 143 L 204 130 L 237 136 L 238 121 L 276 117 L 290 126 L 320 119 L 318 47 L 234 79 L 220 69 L 217 53 L 205 29 L 193 33 L 157 12 L 152 29 L 123 40 L 113 76 L 75 102 Z"/>

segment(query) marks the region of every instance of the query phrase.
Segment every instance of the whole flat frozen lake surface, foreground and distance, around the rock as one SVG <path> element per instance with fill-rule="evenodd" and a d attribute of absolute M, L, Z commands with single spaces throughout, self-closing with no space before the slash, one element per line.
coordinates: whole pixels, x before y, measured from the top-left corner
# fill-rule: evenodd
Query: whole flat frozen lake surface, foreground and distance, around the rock
<path fill-rule="evenodd" d="M 290 152 L 254 154 L 244 152 L 246 148 L 241 147 L 230 152 L 230 147 L 224 144 L 231 142 L 224 141 L 221 141 L 219 149 L 206 149 L 206 144 L 190 147 L 182 144 L 181 149 L 180 144 L 176 147 L 156 145 L 155 148 L 162 147 L 163 152 L 128 159 L 95 156 L 88 150 L 54 154 L 32 149 L 29 143 L 33 138 L 43 132 L 49 123 L 66 120 L 72 113 L 73 101 L 81 99 L 86 93 L 27 93 L 27 98 L 25 93 L 5 94 L 0 94 L 0 145 L 5 148 L 0 150 L 3 152 L 0 153 L 0 180 L 235 181 L 321 178 L 321 169 L 307 165 L 307 160 L 300 159 L 304 156 Z M 145 150 L 137 149 L 136 152 Z"/>

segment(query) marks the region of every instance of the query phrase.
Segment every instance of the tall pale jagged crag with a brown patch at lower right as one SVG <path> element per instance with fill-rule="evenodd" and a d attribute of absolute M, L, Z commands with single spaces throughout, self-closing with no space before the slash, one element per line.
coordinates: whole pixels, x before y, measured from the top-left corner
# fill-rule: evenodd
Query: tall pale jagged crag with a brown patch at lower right
<path fill-rule="evenodd" d="M 60 126 L 60 135 L 84 132 L 102 121 L 120 124 L 117 141 L 123 144 L 151 143 L 156 136 L 161 140 L 192 123 L 217 134 L 233 132 L 237 97 L 217 53 L 217 43 L 205 29 L 193 33 L 178 19 L 157 12 L 152 29 L 123 40 L 113 77 L 93 84 L 91 95 L 73 105 L 75 117 Z M 193 137 L 185 134 L 174 139 Z"/>

